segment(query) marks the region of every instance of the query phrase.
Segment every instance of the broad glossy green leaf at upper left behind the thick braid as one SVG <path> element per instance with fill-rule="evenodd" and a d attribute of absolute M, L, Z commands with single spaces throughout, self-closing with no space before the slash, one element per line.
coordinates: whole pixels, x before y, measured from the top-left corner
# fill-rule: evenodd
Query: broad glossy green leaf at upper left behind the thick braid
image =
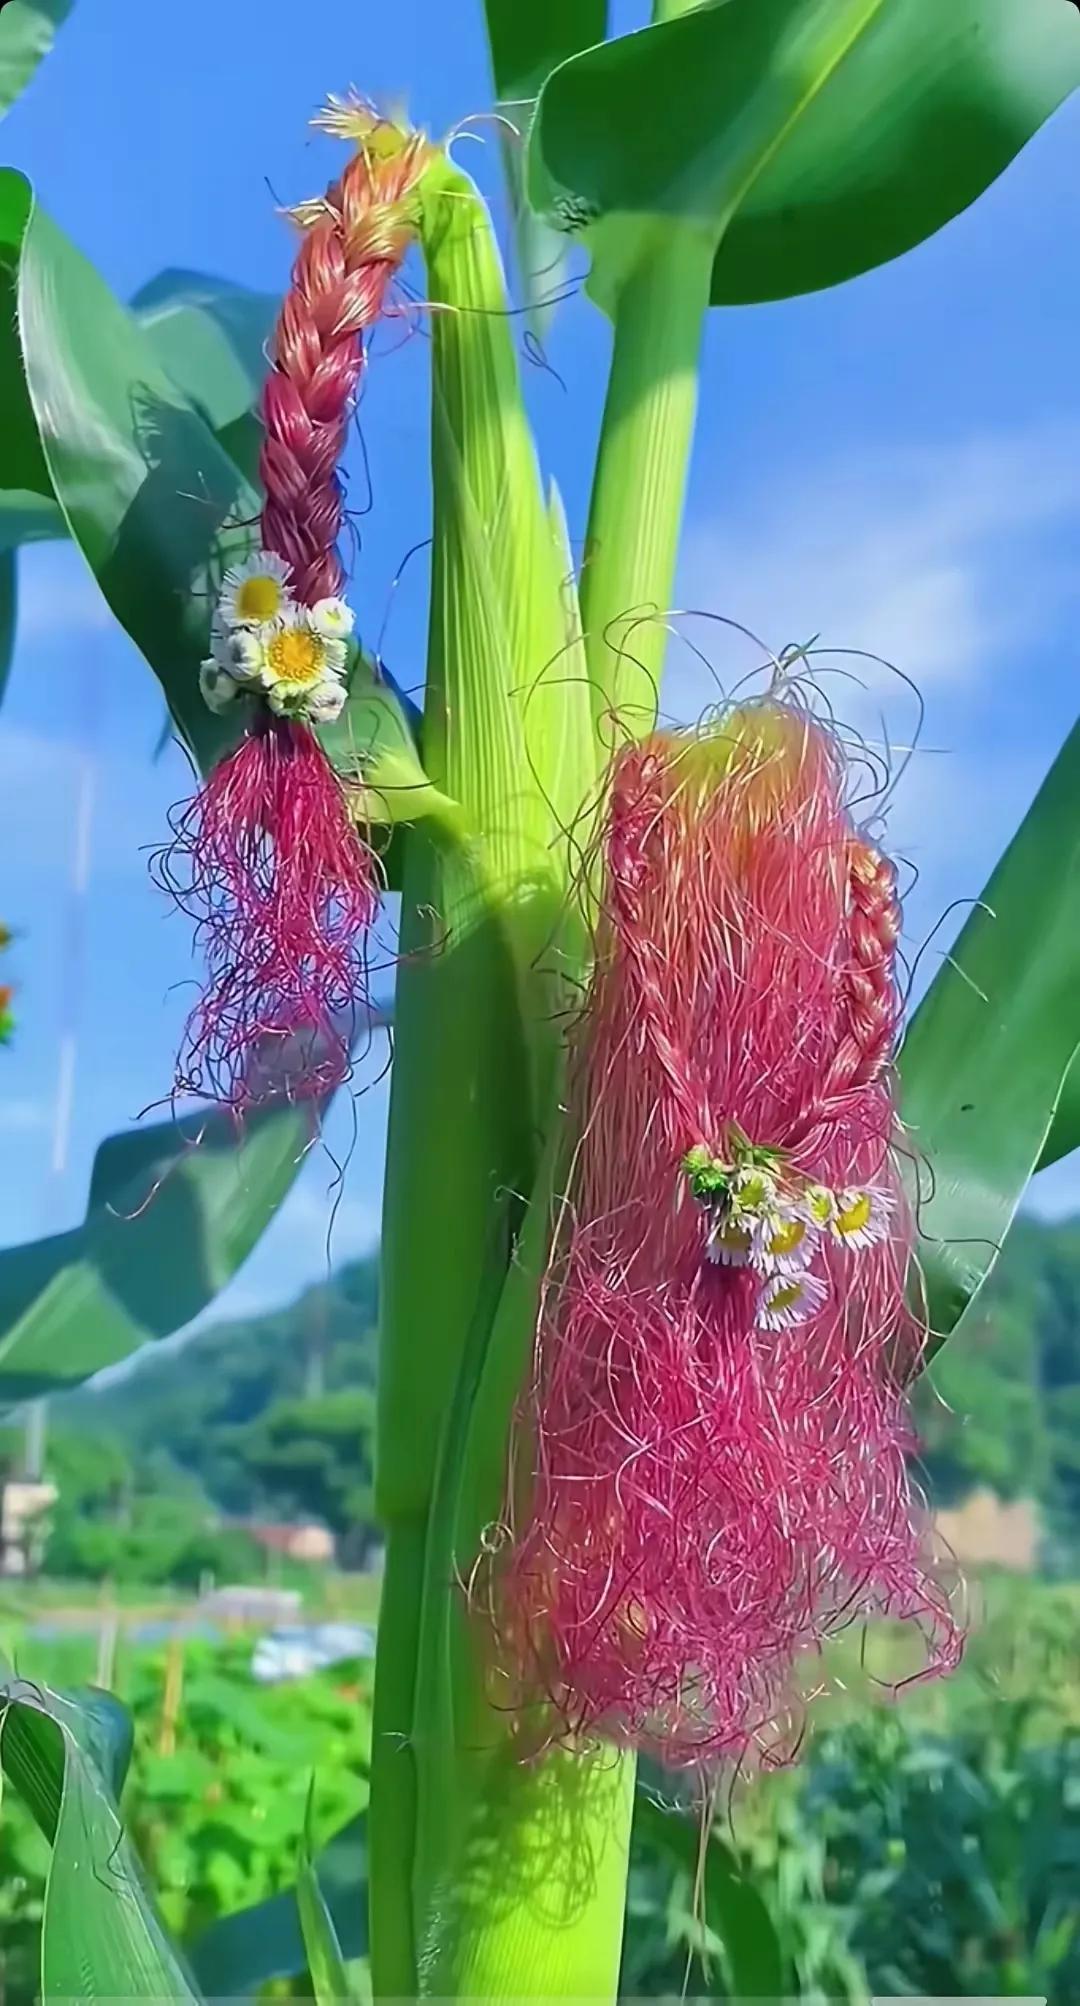
<path fill-rule="evenodd" d="M 12 409 L 16 485 L 56 497 L 207 768 L 237 732 L 199 694 L 211 596 L 229 554 L 249 548 L 259 499 L 130 313 L 10 169 L 0 173 L 0 263 L 14 279 L 24 383 Z M 0 381 L 10 381 L 2 349 Z"/>

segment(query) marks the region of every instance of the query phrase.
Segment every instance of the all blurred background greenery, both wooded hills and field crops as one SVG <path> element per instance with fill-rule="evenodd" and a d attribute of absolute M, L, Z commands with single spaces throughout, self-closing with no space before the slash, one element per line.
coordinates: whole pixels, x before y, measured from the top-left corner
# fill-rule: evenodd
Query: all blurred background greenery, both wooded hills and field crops
<path fill-rule="evenodd" d="M 229 1525 L 245 1517 L 319 1519 L 359 1567 L 371 1539 L 373 1376 L 365 1260 L 289 1310 L 205 1328 L 104 1388 L 56 1400 L 48 1575 L 108 1577 L 120 1601 L 151 1601 L 167 1583 L 183 1595 L 207 1571 L 253 1581 L 265 1557 Z M 954 1502 L 974 1484 L 1034 1496 L 1050 1567 L 1066 1575 L 1080 1547 L 1076 1414 L 1080 1222 L 1022 1220 L 964 1342 L 917 1392 L 933 1496 Z M 8 1468 L 20 1446 L 14 1426 L 0 1430 Z M 48 1579 L 12 1583 L 0 1641 L 30 1677 L 84 1681 L 94 1639 L 40 1621 L 52 1593 Z M 715 1807 L 727 1858 L 765 1904 L 787 1988 L 805 2006 L 855 2006 L 871 1990 L 1080 1998 L 1080 1589 L 1002 1577 L 988 1607 L 962 1673 L 899 1705 L 881 1699 L 859 1643 L 843 1645 L 841 1693 L 815 1709 L 799 1767 L 741 1783 Z M 877 1661 L 871 1647 L 881 1681 L 899 1675 L 887 1651 L 885 1639 Z M 124 1813 L 187 1940 L 295 1880 L 311 1769 L 323 1835 L 365 1795 L 367 1667 L 265 1689 L 249 1661 L 251 1643 L 189 1639 L 177 1685 L 175 1649 L 120 1645 L 116 1683 L 137 1725 Z M 670 1779 L 646 1785 L 670 1803 Z M 685 1803 L 683 1815 L 701 1809 Z M 725 1998 L 709 1904 L 703 1912 L 695 1876 L 654 1837 L 642 1821 L 624 1996 L 677 2000 L 687 1986 Z M 44 1848 L 8 1797 L 4 2006 L 34 1996 L 42 1868 Z"/>

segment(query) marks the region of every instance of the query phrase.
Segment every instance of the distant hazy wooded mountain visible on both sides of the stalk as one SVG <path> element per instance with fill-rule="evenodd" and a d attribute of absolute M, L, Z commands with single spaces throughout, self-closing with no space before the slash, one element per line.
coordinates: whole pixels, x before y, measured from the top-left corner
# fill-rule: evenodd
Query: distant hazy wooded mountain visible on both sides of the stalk
<path fill-rule="evenodd" d="M 353 1262 L 287 1310 L 209 1326 L 56 1402 L 56 1424 L 92 1420 L 134 1460 L 169 1454 L 231 1513 L 281 1509 L 287 1468 L 297 1509 L 311 1509 L 301 1464 L 339 1456 L 333 1496 L 349 1480 L 355 1509 L 369 1474 L 355 1430 L 357 1416 L 367 1430 L 375 1384 L 375 1260 Z M 978 1484 L 1034 1496 L 1060 1537 L 1080 1541 L 1080 1220 L 1018 1220 L 964 1334 L 919 1382 L 915 1418 L 935 1502 Z M 321 1444 L 307 1458 L 305 1426 Z M 335 1517 L 333 1498 L 323 1515 Z"/>

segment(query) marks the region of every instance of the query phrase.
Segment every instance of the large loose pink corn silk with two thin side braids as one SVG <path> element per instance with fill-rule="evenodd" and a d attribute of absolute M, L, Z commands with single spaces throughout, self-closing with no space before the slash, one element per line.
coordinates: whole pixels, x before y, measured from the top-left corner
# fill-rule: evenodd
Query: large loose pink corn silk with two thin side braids
<path fill-rule="evenodd" d="M 799 1657 L 845 1623 L 913 1619 L 927 1671 L 960 1655 L 905 1470 L 923 1332 L 889 1153 L 897 925 L 841 752 L 799 710 L 620 754 L 572 1047 L 580 1145 L 494 1581 L 496 1685 L 526 1741 L 779 1761 Z M 895 1198 L 883 1244 L 827 1250 L 829 1298 L 793 1330 L 755 1330 L 753 1276 L 705 1258 L 681 1159 L 729 1119 L 823 1184 Z"/>

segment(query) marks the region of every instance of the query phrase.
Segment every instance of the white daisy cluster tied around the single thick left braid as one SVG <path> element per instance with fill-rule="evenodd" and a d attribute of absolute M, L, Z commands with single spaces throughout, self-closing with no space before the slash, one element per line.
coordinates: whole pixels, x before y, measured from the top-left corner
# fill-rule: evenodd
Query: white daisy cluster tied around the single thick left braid
<path fill-rule="evenodd" d="M 277 718 L 331 724 L 345 702 L 351 608 L 345 600 L 297 606 L 289 566 L 257 550 L 225 572 L 199 688 L 211 710 L 261 696 Z"/>

